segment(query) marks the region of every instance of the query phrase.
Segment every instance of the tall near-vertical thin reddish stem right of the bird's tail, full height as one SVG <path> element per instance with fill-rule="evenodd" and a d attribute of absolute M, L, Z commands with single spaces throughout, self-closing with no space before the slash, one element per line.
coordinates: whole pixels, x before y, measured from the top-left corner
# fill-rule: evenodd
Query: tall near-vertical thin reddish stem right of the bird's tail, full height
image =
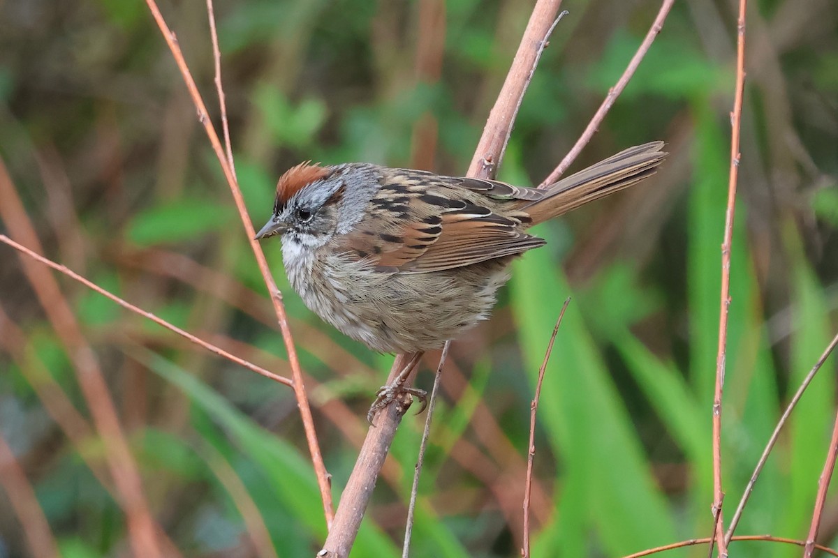
<path fill-rule="evenodd" d="M 737 72 L 736 92 L 731 114 L 731 169 L 727 183 L 727 212 L 725 214 L 724 241 L 722 242 L 722 296 L 719 309 L 719 346 L 716 355 L 716 383 L 713 394 L 713 509 L 721 508 L 722 490 L 722 392 L 725 384 L 727 360 L 727 316 L 730 311 L 731 249 L 733 242 L 733 218 L 736 211 L 736 191 L 739 177 L 739 135 L 742 128 L 742 98 L 745 90 L 745 10 L 747 0 L 739 0 L 737 23 Z M 724 535 L 724 514 L 719 512 L 716 522 L 716 540 L 720 558 L 727 558 L 727 540 Z"/>

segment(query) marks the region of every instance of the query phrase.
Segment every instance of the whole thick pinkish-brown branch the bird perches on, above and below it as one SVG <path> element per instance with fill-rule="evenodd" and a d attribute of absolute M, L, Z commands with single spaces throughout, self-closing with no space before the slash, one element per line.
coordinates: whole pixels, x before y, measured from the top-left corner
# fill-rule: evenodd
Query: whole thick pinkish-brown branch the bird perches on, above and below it
<path fill-rule="evenodd" d="M 494 177 L 494 171 L 502 158 L 526 85 L 529 84 L 538 57 L 546 45 L 547 34 L 555 27 L 556 13 L 560 4 L 561 0 L 538 0 L 535 4 L 530 22 L 521 38 L 518 53 L 515 54 L 510 72 L 506 76 L 504 87 L 489 113 L 489 120 L 486 122 L 483 136 L 478 142 L 477 151 L 468 169 L 469 177 Z M 396 356 L 391 368 L 391 378 L 395 377 L 405 366 L 407 360 L 406 355 Z M 415 374 L 416 368 L 406 385 L 411 384 L 412 376 Z M 375 488 L 380 468 L 396 436 L 396 427 L 401 422 L 402 413 L 396 407 L 398 406 L 390 405 L 375 417 L 376 426 L 371 427 L 367 433 L 364 446 L 361 448 L 352 474 L 349 475 L 344 493 L 341 494 L 340 503 L 334 515 L 334 523 L 323 543 L 323 550 L 318 552 L 318 556 L 345 558 L 349 555 L 355 536 L 358 535 L 361 520 L 370 503 L 370 496 Z"/>

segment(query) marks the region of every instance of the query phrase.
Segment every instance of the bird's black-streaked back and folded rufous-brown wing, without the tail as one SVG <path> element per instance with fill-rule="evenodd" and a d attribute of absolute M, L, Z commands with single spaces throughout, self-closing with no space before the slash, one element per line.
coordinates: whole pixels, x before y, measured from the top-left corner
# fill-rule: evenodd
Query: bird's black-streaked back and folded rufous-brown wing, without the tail
<path fill-rule="evenodd" d="M 403 173 L 413 173 L 404 180 Z M 434 180 L 429 186 L 429 182 Z M 333 239 L 333 249 L 352 259 L 368 259 L 380 271 L 427 273 L 522 253 L 545 243 L 524 233 L 524 213 L 509 216 L 482 205 L 479 192 L 495 200 L 534 199 L 531 188 L 471 178 L 436 177 L 396 171 L 381 179 L 367 217 Z M 489 202 L 489 200 L 487 200 Z"/>

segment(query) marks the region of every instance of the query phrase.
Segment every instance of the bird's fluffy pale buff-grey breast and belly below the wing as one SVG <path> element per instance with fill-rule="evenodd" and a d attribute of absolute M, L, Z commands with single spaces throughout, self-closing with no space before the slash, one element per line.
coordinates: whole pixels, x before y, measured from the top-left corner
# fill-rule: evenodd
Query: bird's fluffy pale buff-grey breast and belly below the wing
<path fill-rule="evenodd" d="M 308 308 L 380 352 L 437 349 L 488 319 L 497 290 L 510 279 L 512 258 L 426 274 L 384 274 L 337 255 L 301 265 L 287 252 L 288 279 Z"/>

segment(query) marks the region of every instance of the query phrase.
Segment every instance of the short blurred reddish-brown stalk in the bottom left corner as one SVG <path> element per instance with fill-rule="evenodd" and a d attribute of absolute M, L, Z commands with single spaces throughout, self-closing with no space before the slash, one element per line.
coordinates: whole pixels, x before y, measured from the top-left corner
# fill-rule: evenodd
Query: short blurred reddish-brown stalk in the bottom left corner
<path fill-rule="evenodd" d="M 32 484 L 23 473 L 23 468 L 14 458 L 3 433 L 0 433 L 0 485 L 8 496 L 9 504 L 18 515 L 23 535 L 34 558 L 52 558 L 60 555 L 52 530 L 38 503 Z"/>

